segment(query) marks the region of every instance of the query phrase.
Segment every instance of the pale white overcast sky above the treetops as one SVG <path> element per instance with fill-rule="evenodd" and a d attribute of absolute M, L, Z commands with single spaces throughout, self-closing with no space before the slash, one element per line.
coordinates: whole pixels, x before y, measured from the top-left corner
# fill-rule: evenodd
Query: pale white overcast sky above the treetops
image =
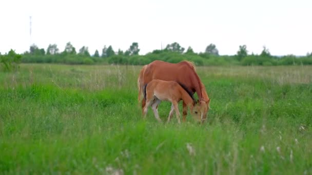
<path fill-rule="evenodd" d="M 140 55 L 178 42 L 194 52 L 213 43 L 220 55 L 234 55 L 240 45 L 260 54 L 306 55 L 312 52 L 310 0 L 114 0 L 0 1 L 0 52 L 47 49 L 67 42 L 90 54 L 111 45 L 126 51 L 139 43 Z M 30 37 L 31 16 L 31 37 Z"/>

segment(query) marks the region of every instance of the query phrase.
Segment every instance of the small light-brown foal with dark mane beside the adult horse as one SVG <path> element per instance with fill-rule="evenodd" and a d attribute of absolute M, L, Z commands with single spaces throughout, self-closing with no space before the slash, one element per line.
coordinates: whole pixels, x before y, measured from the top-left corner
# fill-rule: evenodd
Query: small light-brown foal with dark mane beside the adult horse
<path fill-rule="evenodd" d="M 190 108 L 193 118 L 198 121 L 200 120 L 198 112 L 200 106 L 196 103 L 192 93 L 182 83 L 154 79 L 144 85 L 143 94 L 144 99 L 146 100 L 143 110 L 144 118 L 146 118 L 148 107 L 151 106 L 154 112 L 154 117 L 159 122 L 162 122 L 158 115 L 157 106 L 161 103 L 161 101 L 170 101 L 171 110 L 169 112 L 167 123 L 170 122 L 174 110 L 178 123 L 180 124 L 181 121 L 178 103 L 179 101 L 183 100 Z"/>

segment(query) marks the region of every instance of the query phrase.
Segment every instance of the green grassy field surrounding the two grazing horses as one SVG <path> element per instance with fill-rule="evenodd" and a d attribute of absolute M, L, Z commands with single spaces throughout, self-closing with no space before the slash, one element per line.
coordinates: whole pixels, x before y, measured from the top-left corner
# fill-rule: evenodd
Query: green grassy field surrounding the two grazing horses
<path fill-rule="evenodd" d="M 151 109 L 143 120 L 140 69 L 1 72 L 0 174 L 312 174 L 311 66 L 198 67 L 203 125 L 158 123 Z M 169 110 L 160 104 L 163 121 Z"/>

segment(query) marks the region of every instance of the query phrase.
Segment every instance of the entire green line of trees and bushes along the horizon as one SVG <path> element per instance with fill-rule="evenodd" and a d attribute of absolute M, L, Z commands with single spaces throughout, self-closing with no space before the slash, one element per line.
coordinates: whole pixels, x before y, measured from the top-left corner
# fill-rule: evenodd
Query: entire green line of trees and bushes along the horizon
<path fill-rule="evenodd" d="M 67 42 L 63 51 L 56 44 L 50 44 L 45 50 L 32 45 L 29 51 L 23 54 L 16 54 L 13 50 L 9 54 L 1 55 L 0 62 L 4 67 L 9 68 L 7 62 L 24 63 L 66 63 L 66 64 L 147 64 L 153 60 L 163 60 L 177 63 L 182 60 L 193 61 L 197 65 L 301 65 L 312 64 L 312 53 L 306 56 L 295 55 L 273 56 L 266 47 L 263 47 L 261 54 L 248 54 L 246 45 L 239 46 L 235 55 L 219 55 L 219 51 L 213 43 L 210 43 L 204 52 L 195 53 L 191 47 L 186 50 L 178 42 L 168 44 L 164 49 L 153 50 L 145 55 L 139 55 L 138 42 L 133 42 L 125 52 L 114 51 L 112 46 L 104 46 L 101 53 L 95 50 L 90 54 L 88 47 L 83 46 L 79 50 Z M 12 56 L 14 55 L 15 56 Z M 9 56 L 11 55 L 11 56 Z M 17 56 L 16 56 L 17 55 Z M 14 59 L 13 59 L 14 57 Z M 15 57 L 18 57 L 15 58 Z M 11 61 L 8 61 L 11 60 Z M 6 62 L 6 64 L 4 63 Z"/>

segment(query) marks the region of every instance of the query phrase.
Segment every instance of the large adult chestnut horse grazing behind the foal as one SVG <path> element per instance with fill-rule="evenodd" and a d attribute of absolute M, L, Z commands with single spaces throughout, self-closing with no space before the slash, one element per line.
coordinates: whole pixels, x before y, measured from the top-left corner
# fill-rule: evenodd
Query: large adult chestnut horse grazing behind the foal
<path fill-rule="evenodd" d="M 194 64 L 189 61 L 181 61 L 179 63 L 169 63 L 165 61 L 155 60 L 147 65 L 144 65 L 140 71 L 138 78 L 139 101 L 143 93 L 144 84 L 153 79 L 160 79 L 165 81 L 176 81 L 184 84 L 186 88 L 192 93 L 197 93 L 199 103 L 201 106 L 202 123 L 207 118 L 209 110 L 210 99 L 206 93 L 204 84 L 201 82 L 196 73 Z M 145 99 L 142 100 L 142 110 L 145 106 Z M 186 120 L 187 107 L 183 101 L 183 122 Z"/>

